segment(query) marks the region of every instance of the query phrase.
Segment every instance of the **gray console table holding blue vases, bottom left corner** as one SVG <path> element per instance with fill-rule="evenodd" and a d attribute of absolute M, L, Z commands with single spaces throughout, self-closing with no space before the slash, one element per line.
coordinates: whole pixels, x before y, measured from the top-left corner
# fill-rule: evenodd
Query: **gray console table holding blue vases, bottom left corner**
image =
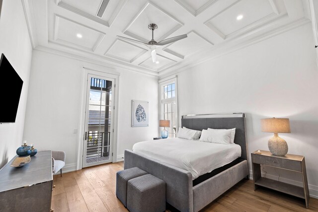
<path fill-rule="evenodd" d="M 52 198 L 52 154 L 41 151 L 25 166 L 10 164 L 0 170 L 0 212 L 50 212 Z"/>

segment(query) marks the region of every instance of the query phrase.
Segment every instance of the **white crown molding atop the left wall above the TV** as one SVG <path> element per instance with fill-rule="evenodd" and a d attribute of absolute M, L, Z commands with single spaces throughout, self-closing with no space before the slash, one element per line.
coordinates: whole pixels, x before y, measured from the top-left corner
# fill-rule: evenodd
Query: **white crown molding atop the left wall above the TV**
<path fill-rule="evenodd" d="M 36 33 L 32 1 L 31 0 L 21 0 L 21 2 L 22 2 L 22 7 L 23 7 L 23 11 L 24 11 L 26 24 L 27 24 L 28 31 L 29 31 L 31 45 L 32 45 L 32 48 L 35 49 L 38 46 L 38 37 L 37 37 L 37 33 Z"/>

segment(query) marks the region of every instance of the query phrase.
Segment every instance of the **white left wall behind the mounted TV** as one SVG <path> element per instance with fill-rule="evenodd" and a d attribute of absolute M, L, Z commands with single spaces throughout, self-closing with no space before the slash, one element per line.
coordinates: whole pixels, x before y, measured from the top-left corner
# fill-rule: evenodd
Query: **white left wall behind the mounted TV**
<path fill-rule="evenodd" d="M 0 168 L 16 155 L 16 149 L 22 144 L 29 86 L 32 47 L 20 0 L 4 0 L 2 2 L 0 16 L 1 53 L 5 55 L 12 67 L 22 78 L 23 87 L 15 123 L 0 125 Z M 5 99 L 1 99 L 0 101 L 3 103 Z"/>

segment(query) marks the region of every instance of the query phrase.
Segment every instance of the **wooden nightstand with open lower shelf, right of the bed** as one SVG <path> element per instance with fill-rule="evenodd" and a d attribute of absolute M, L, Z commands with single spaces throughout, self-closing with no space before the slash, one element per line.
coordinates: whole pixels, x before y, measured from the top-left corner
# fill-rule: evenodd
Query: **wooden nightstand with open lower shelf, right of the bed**
<path fill-rule="evenodd" d="M 279 192 L 290 194 L 302 199 L 305 199 L 306 208 L 309 205 L 309 189 L 306 174 L 305 157 L 302 155 L 286 154 L 285 156 L 273 155 L 270 151 L 261 150 L 261 154 L 256 154 L 257 151 L 251 153 L 254 190 L 258 186 L 270 188 Z M 261 176 L 260 164 L 267 166 L 288 169 L 299 172 L 303 177 L 303 187 L 295 186 L 288 183 L 279 182 Z"/>

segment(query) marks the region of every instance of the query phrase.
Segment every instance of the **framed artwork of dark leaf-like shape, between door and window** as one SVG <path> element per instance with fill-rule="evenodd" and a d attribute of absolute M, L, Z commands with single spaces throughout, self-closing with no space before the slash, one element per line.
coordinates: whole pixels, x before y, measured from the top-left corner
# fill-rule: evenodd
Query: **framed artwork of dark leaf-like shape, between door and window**
<path fill-rule="evenodd" d="M 132 127 L 149 126 L 149 102 L 132 100 Z"/>

